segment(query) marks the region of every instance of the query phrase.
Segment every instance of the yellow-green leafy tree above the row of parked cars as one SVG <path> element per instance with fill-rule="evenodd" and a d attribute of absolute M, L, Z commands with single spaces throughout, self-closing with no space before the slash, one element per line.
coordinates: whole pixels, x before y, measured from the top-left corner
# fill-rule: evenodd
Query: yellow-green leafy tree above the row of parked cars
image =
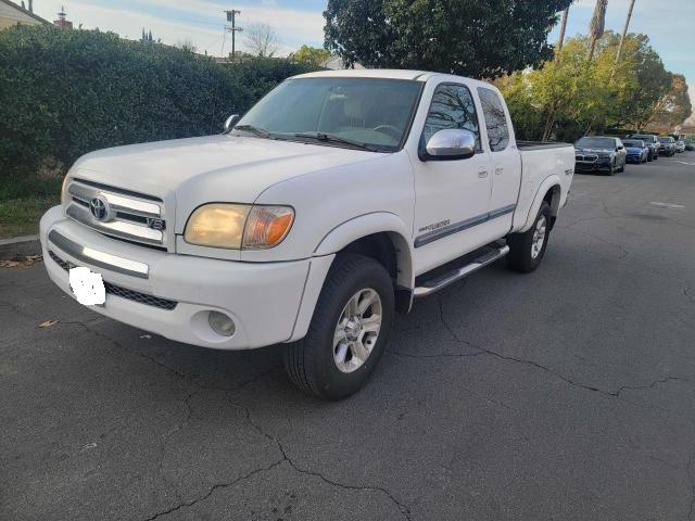
<path fill-rule="evenodd" d="M 607 127 L 643 129 L 657 113 L 662 119 L 682 117 L 688 111 L 683 85 L 678 82 L 675 92 L 667 96 L 673 90 L 672 75 L 664 68 L 649 39 L 627 34 L 623 56 L 616 64 L 620 40 L 619 35 L 607 31 L 594 43 L 590 60 L 591 38 L 570 38 L 542 68 L 498 80 L 520 137 L 555 136 L 573 141 Z"/>

